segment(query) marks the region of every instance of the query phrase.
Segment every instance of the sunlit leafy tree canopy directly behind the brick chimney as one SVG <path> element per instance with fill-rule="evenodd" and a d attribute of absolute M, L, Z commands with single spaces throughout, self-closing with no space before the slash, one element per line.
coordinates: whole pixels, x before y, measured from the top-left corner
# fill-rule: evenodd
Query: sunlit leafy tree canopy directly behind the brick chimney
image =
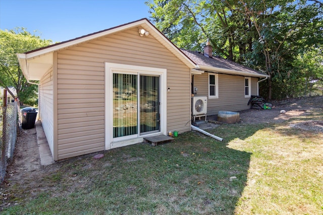
<path fill-rule="evenodd" d="M 202 51 L 207 40 L 217 55 L 230 60 L 239 57 L 236 40 L 237 25 L 245 27 L 247 20 L 230 11 L 228 2 L 206 0 L 161 0 L 146 3 L 156 27 L 177 46 Z M 240 36 L 247 34 L 241 33 Z M 248 39 L 240 40 L 248 43 Z M 241 49 L 242 50 L 242 49 Z M 244 53 L 242 51 L 241 53 Z"/>

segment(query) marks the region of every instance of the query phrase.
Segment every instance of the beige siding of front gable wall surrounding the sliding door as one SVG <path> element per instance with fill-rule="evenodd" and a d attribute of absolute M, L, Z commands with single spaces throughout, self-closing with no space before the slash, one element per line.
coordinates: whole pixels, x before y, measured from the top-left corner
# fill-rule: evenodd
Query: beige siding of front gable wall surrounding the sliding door
<path fill-rule="evenodd" d="M 58 53 L 59 160 L 104 150 L 104 62 L 166 68 L 167 129 L 190 130 L 189 68 L 134 28 Z"/>

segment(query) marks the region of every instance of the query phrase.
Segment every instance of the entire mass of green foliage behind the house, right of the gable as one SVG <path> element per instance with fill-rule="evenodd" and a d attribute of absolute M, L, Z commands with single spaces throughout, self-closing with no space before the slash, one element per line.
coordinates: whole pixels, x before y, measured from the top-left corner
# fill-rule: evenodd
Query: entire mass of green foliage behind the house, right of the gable
<path fill-rule="evenodd" d="M 269 99 L 297 97 L 304 94 L 308 81 L 321 79 L 319 1 L 151 0 L 146 4 L 151 21 L 180 48 L 202 51 L 209 39 L 214 55 L 270 75 L 263 94 Z M 308 60 L 313 52 L 319 57 Z"/>

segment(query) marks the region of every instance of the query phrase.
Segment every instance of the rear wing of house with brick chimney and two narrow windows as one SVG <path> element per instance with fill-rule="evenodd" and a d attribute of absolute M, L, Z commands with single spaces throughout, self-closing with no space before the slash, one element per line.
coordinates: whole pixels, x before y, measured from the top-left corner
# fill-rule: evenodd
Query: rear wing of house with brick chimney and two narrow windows
<path fill-rule="evenodd" d="M 203 53 L 181 50 L 197 65 L 192 72 L 192 94 L 207 97 L 207 115 L 249 109 L 247 103 L 251 95 L 259 94 L 258 83 L 269 77 L 250 67 L 212 56 L 208 42 Z"/>

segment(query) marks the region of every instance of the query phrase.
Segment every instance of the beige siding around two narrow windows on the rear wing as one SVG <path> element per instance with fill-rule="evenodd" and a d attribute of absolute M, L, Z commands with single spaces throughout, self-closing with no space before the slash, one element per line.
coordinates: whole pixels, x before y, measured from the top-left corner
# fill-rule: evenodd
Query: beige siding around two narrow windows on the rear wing
<path fill-rule="evenodd" d="M 251 78 L 251 95 L 257 94 L 257 78 Z M 219 111 L 240 111 L 249 109 L 244 95 L 244 77 L 219 74 L 219 98 L 208 98 L 208 73 L 194 75 L 196 96 L 207 96 L 207 115 L 216 115 Z"/>

